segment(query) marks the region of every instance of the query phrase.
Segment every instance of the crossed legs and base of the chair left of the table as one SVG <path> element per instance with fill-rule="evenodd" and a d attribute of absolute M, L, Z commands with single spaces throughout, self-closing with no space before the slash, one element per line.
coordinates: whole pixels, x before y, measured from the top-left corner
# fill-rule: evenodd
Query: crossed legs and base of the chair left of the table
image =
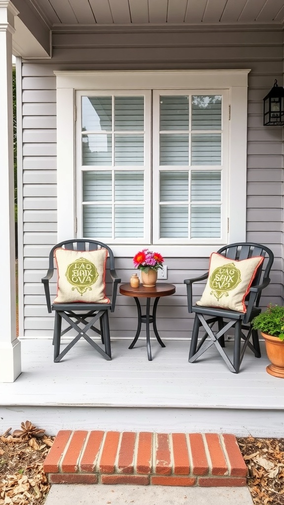
<path fill-rule="evenodd" d="M 54 308 L 54 307 L 53 307 Z M 88 322 L 87 319 L 90 318 L 90 321 Z M 62 319 L 65 319 L 67 323 L 69 324 L 68 328 L 65 330 L 61 331 L 61 326 L 62 326 Z M 73 319 L 75 321 L 73 321 Z M 100 330 L 96 328 L 94 323 L 96 321 L 100 320 Z M 79 324 L 83 325 L 83 328 L 80 328 Z M 62 352 L 60 352 L 60 344 L 61 344 L 61 337 L 65 333 L 67 333 L 71 328 L 74 328 L 78 333 L 77 335 L 72 339 L 72 341 L 64 348 Z M 90 338 L 87 335 L 87 331 L 91 329 L 92 331 L 98 333 L 101 335 L 102 343 L 105 344 L 105 351 L 96 343 L 93 341 L 92 338 Z M 94 349 L 96 349 L 103 358 L 106 360 L 111 360 L 111 342 L 110 342 L 110 330 L 109 330 L 109 317 L 108 317 L 108 311 L 103 310 L 103 311 L 89 311 L 84 314 L 78 314 L 75 313 L 71 310 L 60 310 L 59 307 L 56 308 L 55 310 L 55 325 L 54 325 L 54 338 L 53 338 L 53 343 L 54 343 L 54 362 L 59 363 L 60 360 L 67 354 L 67 352 L 75 345 L 76 342 L 80 338 L 84 338 Z"/>

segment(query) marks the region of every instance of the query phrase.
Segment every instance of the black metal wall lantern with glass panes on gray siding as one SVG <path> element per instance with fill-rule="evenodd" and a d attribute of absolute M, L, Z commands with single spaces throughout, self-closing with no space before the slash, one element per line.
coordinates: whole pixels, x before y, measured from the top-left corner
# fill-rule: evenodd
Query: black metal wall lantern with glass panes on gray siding
<path fill-rule="evenodd" d="M 284 126 L 284 88 L 278 86 L 277 79 L 263 98 L 263 125 Z"/>

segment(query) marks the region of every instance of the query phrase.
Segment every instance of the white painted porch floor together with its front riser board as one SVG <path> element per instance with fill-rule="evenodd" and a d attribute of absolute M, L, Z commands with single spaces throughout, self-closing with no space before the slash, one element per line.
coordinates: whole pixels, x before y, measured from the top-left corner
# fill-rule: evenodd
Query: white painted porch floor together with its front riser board
<path fill-rule="evenodd" d="M 68 342 L 68 340 L 66 340 Z M 30 420 L 51 434 L 59 429 L 284 433 L 284 381 L 270 376 L 247 349 L 239 374 L 212 346 L 188 363 L 188 341 L 112 340 L 112 361 L 80 340 L 60 363 L 50 339 L 22 339 L 22 374 L 1 384 L 0 427 Z M 231 350 L 232 343 L 226 343 Z M 15 426 L 17 424 L 17 426 Z"/>

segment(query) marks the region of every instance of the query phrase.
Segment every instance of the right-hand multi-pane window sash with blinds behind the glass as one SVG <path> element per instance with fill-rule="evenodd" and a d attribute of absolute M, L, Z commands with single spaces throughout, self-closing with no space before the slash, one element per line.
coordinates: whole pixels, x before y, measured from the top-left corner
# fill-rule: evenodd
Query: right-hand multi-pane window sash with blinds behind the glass
<path fill-rule="evenodd" d="M 153 153 L 159 184 L 156 241 L 220 238 L 222 95 L 157 91 L 153 107 L 154 145 L 159 141 L 159 156 Z"/>

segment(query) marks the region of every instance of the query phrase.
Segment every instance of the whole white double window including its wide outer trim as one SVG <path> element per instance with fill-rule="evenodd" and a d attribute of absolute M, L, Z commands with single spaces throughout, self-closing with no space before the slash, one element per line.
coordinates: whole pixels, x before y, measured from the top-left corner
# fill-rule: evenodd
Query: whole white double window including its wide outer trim
<path fill-rule="evenodd" d="M 58 123 L 76 153 L 67 174 L 59 135 L 59 229 L 65 214 L 71 230 L 73 217 L 73 234 L 75 223 L 77 236 L 117 244 L 124 255 L 129 246 L 130 256 L 151 244 L 206 255 L 245 239 L 248 71 L 208 71 L 205 89 L 199 74 L 57 73 Z M 71 93 L 76 128 L 66 117 Z"/>

